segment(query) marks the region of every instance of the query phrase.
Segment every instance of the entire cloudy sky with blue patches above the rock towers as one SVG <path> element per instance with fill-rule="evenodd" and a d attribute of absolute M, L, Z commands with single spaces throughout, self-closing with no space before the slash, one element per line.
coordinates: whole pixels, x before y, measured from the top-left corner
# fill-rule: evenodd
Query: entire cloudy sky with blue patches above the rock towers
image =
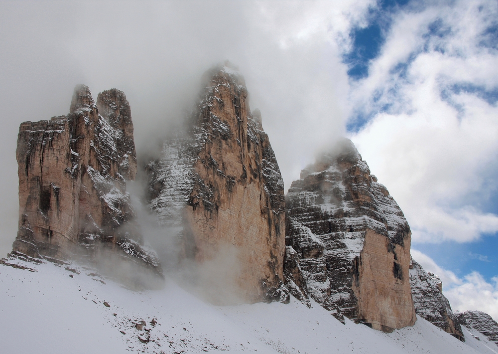
<path fill-rule="evenodd" d="M 124 90 L 138 153 L 185 114 L 202 73 L 246 78 L 285 186 L 353 140 L 454 310 L 498 320 L 498 2 L 0 0 L 0 252 L 17 229 L 19 124 L 76 84 Z"/>

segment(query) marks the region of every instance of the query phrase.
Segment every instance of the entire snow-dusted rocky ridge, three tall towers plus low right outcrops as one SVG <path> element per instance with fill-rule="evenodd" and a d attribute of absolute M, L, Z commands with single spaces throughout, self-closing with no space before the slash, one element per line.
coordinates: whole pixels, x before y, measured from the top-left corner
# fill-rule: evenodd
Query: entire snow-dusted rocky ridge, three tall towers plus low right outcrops
<path fill-rule="evenodd" d="M 284 198 L 261 114 L 250 111 L 244 78 L 227 66 L 208 73 L 185 126 L 146 165 L 147 194 L 179 238 L 180 261 L 196 262 L 214 287 L 234 283 L 249 303 L 287 303 L 292 294 L 311 307 L 311 297 L 343 323 L 346 316 L 385 332 L 413 325 L 416 312 L 464 341 L 461 318 L 498 344 L 489 315 L 457 318 L 439 277 L 410 264 L 403 213 L 351 141 L 304 169 Z M 135 288 L 150 287 L 149 275 L 163 279 L 126 192 L 137 165 L 122 91 L 94 102 L 77 86 L 67 116 L 21 124 L 16 157 L 19 231 L 10 258 L 104 262 L 103 274 L 120 262 L 124 272 L 111 275 Z M 222 282 L 208 274 L 220 265 Z"/>

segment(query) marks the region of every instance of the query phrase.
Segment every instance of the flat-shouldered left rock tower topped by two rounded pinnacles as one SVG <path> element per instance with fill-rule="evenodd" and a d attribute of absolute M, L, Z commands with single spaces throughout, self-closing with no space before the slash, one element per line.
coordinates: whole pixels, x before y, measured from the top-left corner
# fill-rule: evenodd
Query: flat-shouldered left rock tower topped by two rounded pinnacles
<path fill-rule="evenodd" d="M 15 251 L 94 261 L 117 255 L 161 275 L 154 253 L 143 247 L 126 193 L 136 153 L 122 91 L 100 93 L 96 105 L 88 87 L 77 86 L 67 116 L 20 125 L 16 158 Z"/>

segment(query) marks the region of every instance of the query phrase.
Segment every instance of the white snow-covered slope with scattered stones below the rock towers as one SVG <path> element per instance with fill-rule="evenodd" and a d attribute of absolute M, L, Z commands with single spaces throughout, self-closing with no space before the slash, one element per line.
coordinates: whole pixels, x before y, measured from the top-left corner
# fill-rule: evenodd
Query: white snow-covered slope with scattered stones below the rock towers
<path fill-rule="evenodd" d="M 479 333 L 463 328 L 462 343 L 421 318 L 385 334 L 293 298 L 220 307 L 173 281 L 134 292 L 77 264 L 5 261 L 31 269 L 0 265 L 0 353 L 498 353 Z"/>

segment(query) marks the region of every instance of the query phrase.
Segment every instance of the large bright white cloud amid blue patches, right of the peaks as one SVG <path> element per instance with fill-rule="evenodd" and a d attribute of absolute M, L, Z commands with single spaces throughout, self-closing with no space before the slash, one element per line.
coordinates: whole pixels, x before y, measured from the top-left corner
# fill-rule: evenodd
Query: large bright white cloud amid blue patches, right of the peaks
<path fill-rule="evenodd" d="M 498 216 L 476 202 L 498 184 L 498 107 L 451 91 L 462 82 L 498 87 L 498 52 L 478 45 L 490 13 L 498 15 L 494 1 L 400 13 L 371 75 L 352 89 L 367 112 L 381 112 L 351 138 L 404 211 L 415 242 L 498 231 Z M 435 21 L 446 32 L 430 36 Z M 398 64 L 402 75 L 393 71 Z"/>

